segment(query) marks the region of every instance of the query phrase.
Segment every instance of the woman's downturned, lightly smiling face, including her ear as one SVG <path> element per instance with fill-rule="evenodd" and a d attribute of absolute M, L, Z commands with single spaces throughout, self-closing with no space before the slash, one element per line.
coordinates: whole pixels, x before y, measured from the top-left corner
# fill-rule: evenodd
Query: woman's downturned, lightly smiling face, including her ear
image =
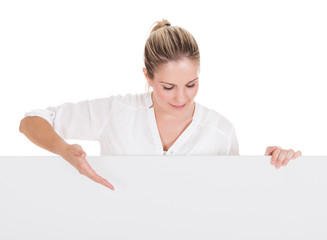
<path fill-rule="evenodd" d="M 148 84 L 153 88 L 153 107 L 157 113 L 175 118 L 190 116 L 199 88 L 198 63 L 189 58 L 170 61 L 159 66 Z"/>

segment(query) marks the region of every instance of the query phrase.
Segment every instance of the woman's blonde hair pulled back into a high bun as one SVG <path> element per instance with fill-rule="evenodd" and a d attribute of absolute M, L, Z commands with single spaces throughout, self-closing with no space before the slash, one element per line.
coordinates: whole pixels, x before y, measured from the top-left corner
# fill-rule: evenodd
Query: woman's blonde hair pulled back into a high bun
<path fill-rule="evenodd" d="M 149 78 L 154 78 L 156 68 L 161 64 L 184 57 L 197 61 L 200 67 L 200 51 L 195 38 L 187 30 L 171 26 L 166 19 L 157 21 L 144 48 L 144 65 Z"/>

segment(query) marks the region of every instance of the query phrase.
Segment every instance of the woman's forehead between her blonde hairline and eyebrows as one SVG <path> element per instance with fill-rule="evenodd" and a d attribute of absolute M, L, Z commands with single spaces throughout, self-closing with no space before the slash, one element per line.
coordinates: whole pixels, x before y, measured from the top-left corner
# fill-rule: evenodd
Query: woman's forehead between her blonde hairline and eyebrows
<path fill-rule="evenodd" d="M 190 60 L 189 58 L 169 61 L 156 69 L 154 80 L 184 84 L 198 77 L 198 69 L 197 61 Z"/>

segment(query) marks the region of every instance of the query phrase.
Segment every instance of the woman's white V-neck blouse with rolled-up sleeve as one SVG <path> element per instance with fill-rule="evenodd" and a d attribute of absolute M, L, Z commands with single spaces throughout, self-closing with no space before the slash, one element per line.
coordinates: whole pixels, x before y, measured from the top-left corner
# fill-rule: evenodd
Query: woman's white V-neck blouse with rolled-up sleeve
<path fill-rule="evenodd" d="M 233 125 L 197 102 L 191 124 L 164 152 L 151 94 L 65 103 L 25 116 L 44 118 L 64 139 L 99 141 L 101 155 L 239 155 Z"/>

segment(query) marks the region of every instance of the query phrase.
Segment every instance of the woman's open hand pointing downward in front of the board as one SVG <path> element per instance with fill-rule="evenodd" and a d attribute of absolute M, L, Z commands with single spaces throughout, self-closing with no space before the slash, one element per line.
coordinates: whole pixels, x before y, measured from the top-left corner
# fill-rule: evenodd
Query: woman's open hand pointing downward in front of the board
<path fill-rule="evenodd" d="M 86 153 L 83 148 L 78 144 L 68 144 L 61 157 L 73 165 L 80 174 L 92 179 L 93 181 L 104 185 L 111 190 L 114 186 L 111 185 L 106 179 L 99 176 L 86 161 Z"/>

